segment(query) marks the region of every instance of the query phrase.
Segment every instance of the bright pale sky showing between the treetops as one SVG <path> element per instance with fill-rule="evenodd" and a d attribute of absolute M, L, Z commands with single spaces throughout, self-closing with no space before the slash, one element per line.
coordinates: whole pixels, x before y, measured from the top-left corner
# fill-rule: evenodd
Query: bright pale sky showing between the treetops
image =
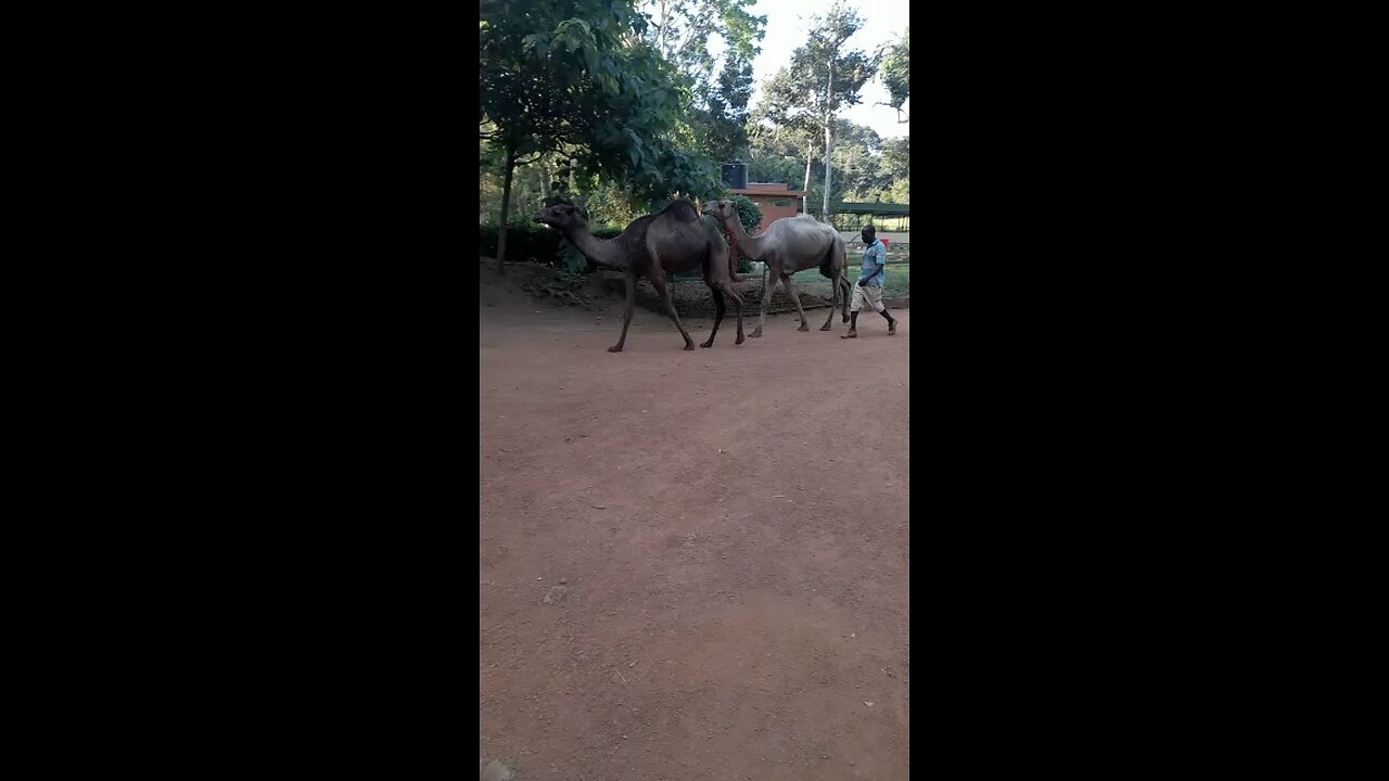
<path fill-rule="evenodd" d="M 845 3 L 858 10 L 864 18 L 864 26 L 849 39 L 850 49 L 861 49 L 872 53 L 879 43 L 897 40 L 903 29 L 911 24 L 907 11 L 907 0 L 845 0 Z M 753 60 L 753 100 L 749 108 L 761 100 L 763 82 L 772 76 L 779 68 L 790 63 L 790 53 L 806 42 L 806 31 L 810 26 L 810 17 L 824 15 L 833 4 L 832 0 L 757 0 L 749 11 L 767 17 L 767 35 L 763 38 L 763 50 Z M 722 40 L 710 40 L 710 54 L 715 58 L 724 51 Z M 897 111 L 888 106 L 874 106 L 874 103 L 888 101 L 888 88 L 878 76 L 870 81 L 863 92 L 858 106 L 840 110 L 836 115 L 867 125 L 882 138 L 906 136 L 910 132 L 910 122 L 897 122 Z M 911 114 L 911 100 L 903 106 L 903 114 Z"/>

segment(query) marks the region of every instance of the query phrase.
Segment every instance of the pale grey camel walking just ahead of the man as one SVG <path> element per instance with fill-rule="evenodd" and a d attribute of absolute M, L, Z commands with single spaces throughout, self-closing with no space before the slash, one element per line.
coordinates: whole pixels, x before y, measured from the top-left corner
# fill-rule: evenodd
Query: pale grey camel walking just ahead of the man
<path fill-rule="evenodd" d="M 786 286 L 786 295 L 796 304 L 796 314 L 800 315 L 800 328 L 796 331 L 810 331 L 806 322 L 806 310 L 800 307 L 800 295 L 790 281 L 790 275 L 807 268 L 820 268 L 820 274 L 829 279 L 832 295 L 829 299 L 829 317 L 820 327 L 829 331 L 829 322 L 835 318 L 835 303 L 843 302 L 845 322 L 849 322 L 849 299 L 853 286 L 845 277 L 845 239 L 838 231 L 815 221 L 814 217 L 800 214 L 797 217 L 783 217 L 771 224 L 761 236 L 749 236 L 743 231 L 743 224 L 738 220 L 738 210 L 731 200 L 714 200 L 704 206 L 704 214 L 715 217 L 724 228 L 733 235 L 736 247 L 753 260 L 767 264 L 770 282 L 763 290 L 763 311 L 757 318 L 757 329 L 747 335 L 756 339 L 763 335 L 763 324 L 767 322 L 767 307 L 772 303 L 772 292 L 776 281 Z"/>

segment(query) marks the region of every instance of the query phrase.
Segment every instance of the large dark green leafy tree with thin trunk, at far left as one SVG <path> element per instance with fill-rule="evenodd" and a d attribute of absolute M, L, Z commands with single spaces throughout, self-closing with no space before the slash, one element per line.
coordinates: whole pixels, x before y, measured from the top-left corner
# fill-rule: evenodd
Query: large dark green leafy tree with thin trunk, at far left
<path fill-rule="evenodd" d="M 572 156 L 579 172 L 622 182 L 642 202 L 717 193 L 713 161 L 668 138 L 688 90 L 643 42 L 646 25 L 631 0 L 482 1 L 478 125 L 503 160 L 499 271 L 514 171 L 544 151 Z"/>

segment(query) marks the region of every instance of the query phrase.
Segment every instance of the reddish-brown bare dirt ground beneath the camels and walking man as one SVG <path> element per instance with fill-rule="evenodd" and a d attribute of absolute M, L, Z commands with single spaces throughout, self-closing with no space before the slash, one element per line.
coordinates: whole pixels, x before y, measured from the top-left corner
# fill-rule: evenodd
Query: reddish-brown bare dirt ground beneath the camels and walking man
<path fill-rule="evenodd" d="M 910 313 L 482 299 L 479 771 L 907 778 Z"/>

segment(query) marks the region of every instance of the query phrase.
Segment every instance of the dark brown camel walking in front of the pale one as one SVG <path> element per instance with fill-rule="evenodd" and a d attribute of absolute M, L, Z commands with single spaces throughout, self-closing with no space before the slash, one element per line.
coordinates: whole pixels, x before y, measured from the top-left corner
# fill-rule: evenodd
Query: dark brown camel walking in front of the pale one
<path fill-rule="evenodd" d="M 621 235 L 600 240 L 589 232 L 588 220 L 567 203 L 542 208 L 535 214 L 536 222 L 558 231 L 583 257 L 594 265 L 618 268 L 626 274 L 626 310 L 622 313 L 622 336 L 610 353 L 621 353 L 626 343 L 626 329 L 632 324 L 632 307 L 636 304 L 636 281 L 644 275 L 656 293 L 661 296 L 667 314 L 675 321 L 675 328 L 685 338 L 685 349 L 693 350 L 694 340 L 675 314 L 675 303 L 665 290 L 665 275 L 701 268 L 704 283 L 714 295 L 714 328 L 700 347 L 714 346 L 718 324 L 724 321 L 724 296 L 733 299 L 738 310 L 738 340 L 743 343 L 743 297 L 729 282 L 728 243 L 718 228 L 706 222 L 694 204 L 678 199 L 657 214 L 638 217 Z"/>

